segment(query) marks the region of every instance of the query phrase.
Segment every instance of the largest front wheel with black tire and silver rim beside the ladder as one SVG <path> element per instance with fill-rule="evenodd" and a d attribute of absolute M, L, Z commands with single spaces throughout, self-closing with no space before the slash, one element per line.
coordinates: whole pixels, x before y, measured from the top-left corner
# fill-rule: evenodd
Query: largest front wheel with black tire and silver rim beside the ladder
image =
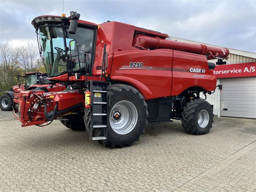
<path fill-rule="evenodd" d="M 111 85 L 110 94 L 107 139 L 97 141 L 112 148 L 131 146 L 134 141 L 139 141 L 140 134 L 144 133 L 148 123 L 147 103 L 137 89 L 125 84 Z M 117 112 L 119 116 L 116 115 Z M 95 129 L 93 136 L 103 136 L 103 131 Z"/>

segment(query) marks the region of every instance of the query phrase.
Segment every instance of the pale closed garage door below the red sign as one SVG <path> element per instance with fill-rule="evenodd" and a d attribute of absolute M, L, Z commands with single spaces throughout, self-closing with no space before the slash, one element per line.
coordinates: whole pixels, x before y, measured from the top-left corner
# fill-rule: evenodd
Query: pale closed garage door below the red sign
<path fill-rule="evenodd" d="M 256 77 L 222 78 L 220 115 L 256 118 Z"/>

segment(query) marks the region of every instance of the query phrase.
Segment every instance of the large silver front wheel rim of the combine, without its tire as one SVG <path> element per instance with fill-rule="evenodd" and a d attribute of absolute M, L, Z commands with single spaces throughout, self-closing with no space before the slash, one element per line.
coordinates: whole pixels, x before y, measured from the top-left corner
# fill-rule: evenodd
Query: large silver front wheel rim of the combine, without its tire
<path fill-rule="evenodd" d="M 124 135 L 131 132 L 136 126 L 137 121 L 137 108 L 130 101 L 119 101 L 110 111 L 109 123 L 117 134 Z"/>

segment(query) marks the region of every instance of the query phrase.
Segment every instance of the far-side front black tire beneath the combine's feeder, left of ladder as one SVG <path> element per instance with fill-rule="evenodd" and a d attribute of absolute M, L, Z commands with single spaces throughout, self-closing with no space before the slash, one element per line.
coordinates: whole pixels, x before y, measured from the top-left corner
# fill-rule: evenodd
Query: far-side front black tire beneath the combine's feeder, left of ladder
<path fill-rule="evenodd" d="M 72 115 L 63 116 L 63 118 L 73 118 L 72 121 L 67 120 L 60 120 L 60 122 L 68 127 L 69 129 L 75 130 L 75 131 L 85 131 L 84 121 L 83 118 L 74 118 Z"/>

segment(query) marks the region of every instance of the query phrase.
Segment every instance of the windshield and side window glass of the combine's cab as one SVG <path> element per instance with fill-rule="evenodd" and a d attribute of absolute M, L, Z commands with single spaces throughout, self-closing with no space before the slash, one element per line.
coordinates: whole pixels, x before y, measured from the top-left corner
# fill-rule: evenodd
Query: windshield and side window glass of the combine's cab
<path fill-rule="evenodd" d="M 65 73 L 85 74 L 85 64 L 91 64 L 93 29 L 78 27 L 76 34 L 69 34 L 68 29 L 44 25 L 38 31 L 48 77 Z"/>

